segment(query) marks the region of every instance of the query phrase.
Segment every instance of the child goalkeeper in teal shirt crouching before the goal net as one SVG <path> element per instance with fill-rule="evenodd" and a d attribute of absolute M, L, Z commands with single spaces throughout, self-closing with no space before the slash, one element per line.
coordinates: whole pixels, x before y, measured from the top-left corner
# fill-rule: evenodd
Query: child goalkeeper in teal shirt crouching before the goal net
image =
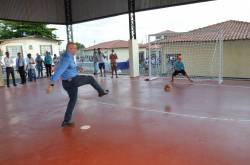
<path fill-rule="evenodd" d="M 182 74 L 183 76 L 187 77 L 187 79 L 190 82 L 193 82 L 193 80 L 190 79 L 190 77 L 187 75 L 187 72 L 185 71 L 184 64 L 182 62 L 181 54 L 177 56 L 177 61 L 174 64 L 174 73 L 172 74 L 172 80 L 171 82 L 174 82 L 174 77 Z"/>

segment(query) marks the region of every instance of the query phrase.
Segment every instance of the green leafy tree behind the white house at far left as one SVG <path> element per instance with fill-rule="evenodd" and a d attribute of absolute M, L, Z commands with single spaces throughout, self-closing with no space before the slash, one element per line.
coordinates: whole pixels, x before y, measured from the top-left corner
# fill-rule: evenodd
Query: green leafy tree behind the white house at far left
<path fill-rule="evenodd" d="M 48 28 L 46 24 L 0 21 L 0 39 L 10 39 L 25 36 L 39 36 L 50 39 L 56 39 L 53 34 L 55 28 Z"/>

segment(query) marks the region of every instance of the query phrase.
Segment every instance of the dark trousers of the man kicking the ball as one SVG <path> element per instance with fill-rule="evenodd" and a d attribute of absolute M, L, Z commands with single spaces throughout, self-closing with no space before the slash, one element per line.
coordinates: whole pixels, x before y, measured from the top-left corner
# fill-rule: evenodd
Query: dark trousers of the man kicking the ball
<path fill-rule="evenodd" d="M 63 80 L 63 88 L 69 95 L 69 102 L 64 116 L 64 122 L 69 122 L 77 101 L 78 87 L 83 85 L 91 85 L 98 93 L 103 93 L 104 90 L 92 76 L 80 75 L 70 80 Z"/>

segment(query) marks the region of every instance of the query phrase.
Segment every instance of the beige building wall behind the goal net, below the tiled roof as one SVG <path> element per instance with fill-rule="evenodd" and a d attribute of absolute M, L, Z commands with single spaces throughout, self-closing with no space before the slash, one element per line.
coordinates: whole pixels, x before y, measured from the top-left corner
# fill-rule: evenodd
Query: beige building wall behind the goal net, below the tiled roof
<path fill-rule="evenodd" d="M 215 49 L 216 48 L 216 49 Z M 224 41 L 223 77 L 250 78 L 250 40 Z M 183 56 L 186 71 L 195 76 L 217 76 L 220 67 L 219 44 L 183 42 L 164 45 L 164 54 Z M 166 63 L 166 57 L 162 58 Z M 167 67 L 162 66 L 163 72 Z"/>

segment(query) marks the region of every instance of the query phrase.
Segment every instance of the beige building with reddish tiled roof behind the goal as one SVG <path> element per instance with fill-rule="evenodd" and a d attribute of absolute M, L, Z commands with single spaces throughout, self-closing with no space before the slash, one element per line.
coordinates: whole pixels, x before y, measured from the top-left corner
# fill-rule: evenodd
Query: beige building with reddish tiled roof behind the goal
<path fill-rule="evenodd" d="M 156 34 L 161 72 L 170 56 L 179 54 L 192 76 L 250 79 L 250 23 L 226 21 L 189 32 Z"/>

